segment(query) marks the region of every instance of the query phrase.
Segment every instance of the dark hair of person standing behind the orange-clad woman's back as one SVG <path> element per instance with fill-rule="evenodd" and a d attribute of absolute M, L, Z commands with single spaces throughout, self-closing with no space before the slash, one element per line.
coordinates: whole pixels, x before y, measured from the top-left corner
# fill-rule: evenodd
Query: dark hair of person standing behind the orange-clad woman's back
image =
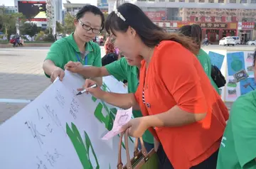
<path fill-rule="evenodd" d="M 198 44 L 199 48 L 201 48 L 202 43 L 202 29 L 200 26 L 193 24 L 191 26 L 182 26 L 179 29 L 179 32 L 182 33 L 184 36 L 191 37 L 192 40 Z"/>

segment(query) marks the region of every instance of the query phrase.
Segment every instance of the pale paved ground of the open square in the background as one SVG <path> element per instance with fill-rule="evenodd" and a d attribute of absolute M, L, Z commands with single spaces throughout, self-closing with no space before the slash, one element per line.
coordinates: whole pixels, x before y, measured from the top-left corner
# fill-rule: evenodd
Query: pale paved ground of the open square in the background
<path fill-rule="evenodd" d="M 254 50 L 255 47 L 209 45 L 203 48 Z M 31 47 L 0 49 L 0 124 L 26 106 L 27 103 L 21 102 L 35 99 L 50 84 L 50 80 L 45 77 L 42 70 L 48 49 Z M 102 48 L 102 55 L 103 51 Z"/>

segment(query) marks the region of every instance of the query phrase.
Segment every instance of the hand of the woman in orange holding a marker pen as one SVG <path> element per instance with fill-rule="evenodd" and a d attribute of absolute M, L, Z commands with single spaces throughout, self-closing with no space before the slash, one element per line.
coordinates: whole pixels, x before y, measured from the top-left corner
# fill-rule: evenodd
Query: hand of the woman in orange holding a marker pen
<path fill-rule="evenodd" d="M 103 95 L 105 94 L 105 92 L 97 86 L 96 82 L 90 79 L 85 80 L 85 84 L 82 86 L 82 88 L 78 89 L 78 91 L 80 92 L 78 92 L 77 95 L 82 93 L 90 93 L 97 99 L 102 99 Z"/>

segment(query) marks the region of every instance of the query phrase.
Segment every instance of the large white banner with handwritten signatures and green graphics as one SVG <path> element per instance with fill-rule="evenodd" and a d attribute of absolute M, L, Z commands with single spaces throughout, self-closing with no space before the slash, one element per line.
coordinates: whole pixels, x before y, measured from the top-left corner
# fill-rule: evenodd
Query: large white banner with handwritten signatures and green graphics
<path fill-rule="evenodd" d="M 120 83 L 104 79 L 118 91 Z M 63 82 L 50 85 L 31 104 L 0 126 L 0 166 L 4 169 L 117 168 L 119 136 L 103 141 L 117 109 L 90 94 L 76 96 L 85 80 L 65 71 Z M 112 84 L 110 84 L 112 82 Z M 133 139 L 129 138 L 130 154 Z M 124 147 L 122 161 L 126 163 Z"/>

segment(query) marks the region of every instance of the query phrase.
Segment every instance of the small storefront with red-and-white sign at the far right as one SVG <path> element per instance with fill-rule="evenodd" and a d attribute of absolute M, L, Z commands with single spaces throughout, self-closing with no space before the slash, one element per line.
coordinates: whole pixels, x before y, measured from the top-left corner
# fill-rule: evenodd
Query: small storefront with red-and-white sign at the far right
<path fill-rule="evenodd" d="M 254 22 L 240 22 L 238 23 L 238 36 L 240 37 L 241 43 L 246 43 L 252 39 L 252 31 L 255 28 Z"/>

